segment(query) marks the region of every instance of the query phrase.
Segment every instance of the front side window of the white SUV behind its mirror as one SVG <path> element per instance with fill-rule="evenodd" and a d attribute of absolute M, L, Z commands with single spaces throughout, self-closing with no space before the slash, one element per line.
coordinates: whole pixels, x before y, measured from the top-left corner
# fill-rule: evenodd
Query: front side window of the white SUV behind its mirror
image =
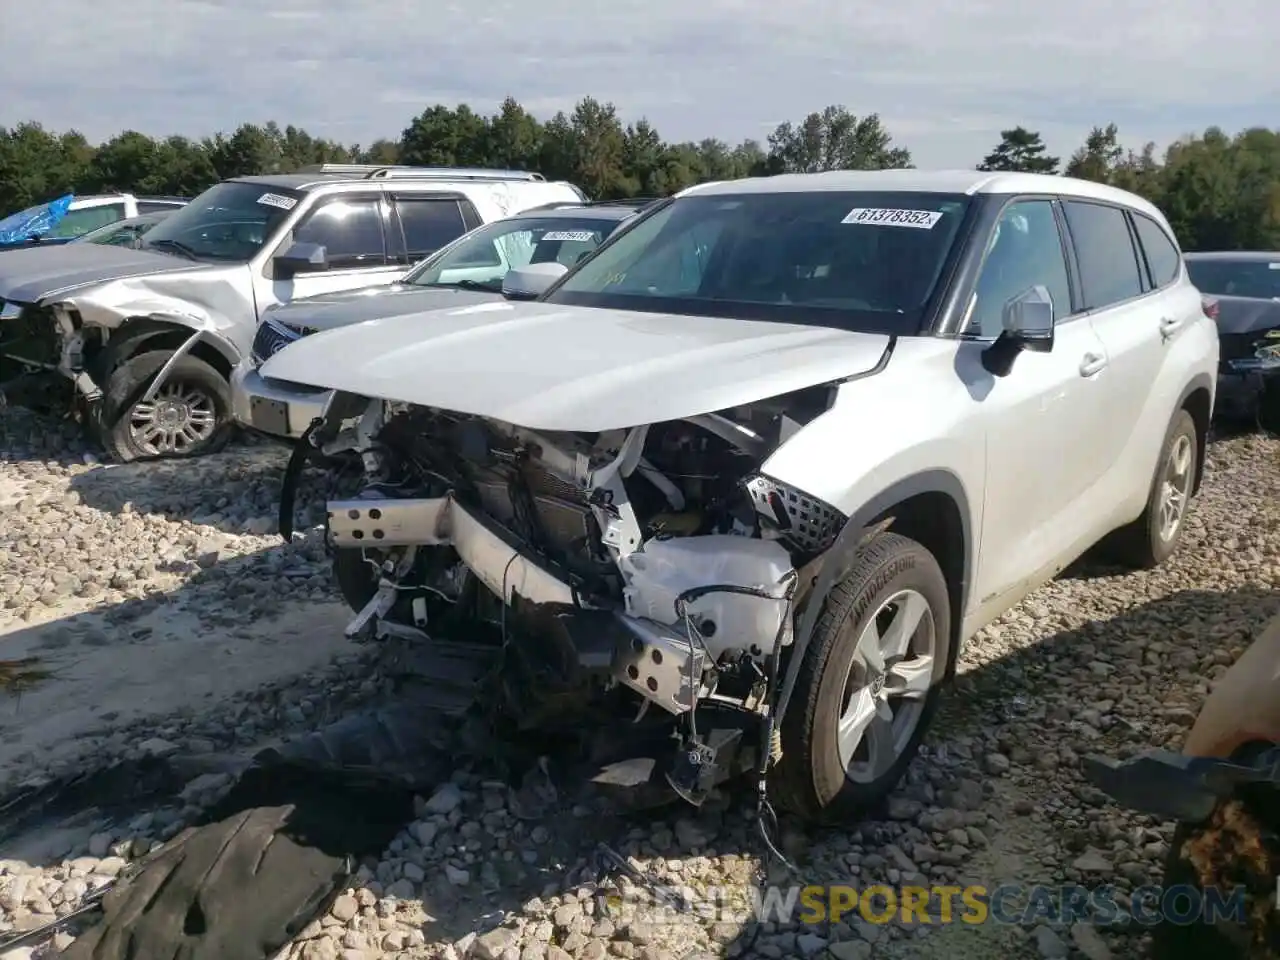
<path fill-rule="evenodd" d="M 1053 298 L 1053 320 L 1071 312 L 1062 236 L 1048 200 L 1020 200 L 1005 207 L 974 287 L 964 333 L 995 339 L 1004 329 L 1004 310 L 1012 297 L 1042 285 Z"/>

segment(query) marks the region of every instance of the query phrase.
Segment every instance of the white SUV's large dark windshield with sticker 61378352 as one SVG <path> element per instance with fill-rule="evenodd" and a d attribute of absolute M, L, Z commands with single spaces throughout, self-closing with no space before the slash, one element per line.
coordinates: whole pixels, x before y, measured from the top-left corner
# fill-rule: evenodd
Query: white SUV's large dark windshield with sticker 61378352
<path fill-rule="evenodd" d="M 954 193 L 681 197 L 547 301 L 915 333 L 968 205 Z"/>

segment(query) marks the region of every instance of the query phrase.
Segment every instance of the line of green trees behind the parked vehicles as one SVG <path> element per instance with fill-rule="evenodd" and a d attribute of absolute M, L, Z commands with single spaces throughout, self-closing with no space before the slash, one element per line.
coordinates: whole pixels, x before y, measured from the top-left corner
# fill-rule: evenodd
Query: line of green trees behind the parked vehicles
<path fill-rule="evenodd" d="M 0 215 L 67 192 L 128 191 L 192 197 L 228 177 L 288 173 L 319 163 L 424 164 L 539 170 L 600 200 L 667 196 L 703 180 L 778 173 L 913 166 L 878 114 L 832 105 L 780 124 L 764 143 L 716 138 L 667 142 L 648 120 L 623 123 L 613 104 L 584 97 L 541 122 L 508 97 L 484 115 L 462 104 L 430 106 L 398 140 L 367 146 L 312 137 L 274 122 L 202 140 L 125 131 L 90 143 L 78 131 L 37 122 L 0 127 Z M 1066 159 L 1041 136 L 1004 131 L 979 170 L 1062 173 L 1139 193 L 1169 216 L 1187 250 L 1280 250 L 1280 131 L 1228 134 L 1211 127 L 1157 156 L 1125 147 L 1115 124 L 1096 127 Z"/>

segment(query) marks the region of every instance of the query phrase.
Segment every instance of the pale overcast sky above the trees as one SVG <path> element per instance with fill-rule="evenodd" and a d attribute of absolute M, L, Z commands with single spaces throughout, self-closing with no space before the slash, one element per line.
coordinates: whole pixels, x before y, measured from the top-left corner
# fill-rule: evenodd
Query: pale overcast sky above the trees
<path fill-rule="evenodd" d="M 438 102 L 590 95 L 736 143 L 844 104 L 973 166 L 1019 123 L 1064 159 L 1107 122 L 1134 147 L 1275 125 L 1277 37 L 1276 0 L 0 0 L 0 125 L 369 143 Z"/>

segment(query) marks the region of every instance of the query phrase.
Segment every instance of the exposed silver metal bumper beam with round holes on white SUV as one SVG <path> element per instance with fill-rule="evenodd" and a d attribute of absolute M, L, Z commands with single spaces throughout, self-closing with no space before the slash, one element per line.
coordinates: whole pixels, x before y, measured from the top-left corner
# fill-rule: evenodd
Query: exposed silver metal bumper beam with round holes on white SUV
<path fill-rule="evenodd" d="M 458 558 L 504 603 L 516 595 L 539 604 L 577 607 L 573 589 L 452 497 L 330 500 L 334 547 L 452 547 Z M 705 650 L 676 628 L 614 612 L 613 677 L 664 710 L 681 714 L 700 695 Z M 691 682 L 692 681 L 692 682 Z"/>

